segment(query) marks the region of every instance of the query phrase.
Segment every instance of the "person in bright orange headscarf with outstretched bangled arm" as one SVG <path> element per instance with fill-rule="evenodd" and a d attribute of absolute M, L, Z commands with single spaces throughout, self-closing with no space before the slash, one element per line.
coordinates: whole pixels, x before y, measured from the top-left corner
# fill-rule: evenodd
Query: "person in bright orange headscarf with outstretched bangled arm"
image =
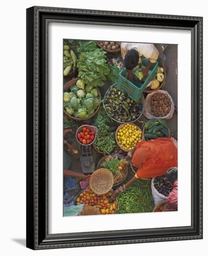
<path fill-rule="evenodd" d="M 129 158 L 131 158 L 132 164 L 138 167 L 136 175 L 116 189 L 112 199 L 128 188 L 136 179 L 165 175 L 169 168 L 176 167 L 178 163 L 177 148 L 169 138 L 138 142 L 136 147 L 128 152 L 126 160 Z"/>

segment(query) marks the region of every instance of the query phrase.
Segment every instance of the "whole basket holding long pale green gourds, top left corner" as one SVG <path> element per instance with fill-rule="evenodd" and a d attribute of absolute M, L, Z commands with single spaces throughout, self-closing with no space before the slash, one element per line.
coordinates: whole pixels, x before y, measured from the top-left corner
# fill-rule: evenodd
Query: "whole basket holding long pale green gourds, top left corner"
<path fill-rule="evenodd" d="M 78 53 L 75 51 L 73 47 L 64 45 L 63 55 L 63 74 L 64 77 L 69 80 L 78 74 Z"/>

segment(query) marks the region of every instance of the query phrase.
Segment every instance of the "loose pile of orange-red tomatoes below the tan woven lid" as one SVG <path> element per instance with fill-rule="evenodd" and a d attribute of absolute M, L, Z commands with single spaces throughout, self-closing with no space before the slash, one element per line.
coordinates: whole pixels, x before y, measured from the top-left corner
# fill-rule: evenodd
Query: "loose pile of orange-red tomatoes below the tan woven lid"
<path fill-rule="evenodd" d="M 103 195 L 93 193 L 91 188 L 79 194 L 77 204 L 83 203 L 85 206 L 90 205 L 96 207 L 101 214 L 115 214 L 117 209 L 116 201 L 110 202 L 112 193 L 108 192 Z"/>

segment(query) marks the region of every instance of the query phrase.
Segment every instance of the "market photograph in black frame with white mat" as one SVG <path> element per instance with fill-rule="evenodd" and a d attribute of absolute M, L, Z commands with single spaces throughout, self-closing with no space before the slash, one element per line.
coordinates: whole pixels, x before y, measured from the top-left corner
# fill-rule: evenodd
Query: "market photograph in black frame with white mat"
<path fill-rule="evenodd" d="M 202 17 L 26 19 L 26 246 L 202 239 Z"/>

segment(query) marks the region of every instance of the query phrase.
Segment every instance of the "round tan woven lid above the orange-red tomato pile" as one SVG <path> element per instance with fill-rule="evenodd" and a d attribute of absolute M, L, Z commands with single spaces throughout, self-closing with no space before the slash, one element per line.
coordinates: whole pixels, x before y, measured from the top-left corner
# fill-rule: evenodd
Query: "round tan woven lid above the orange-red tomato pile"
<path fill-rule="evenodd" d="M 97 195 L 103 195 L 113 187 L 113 175 L 105 168 L 93 172 L 90 177 L 90 187 Z"/>

